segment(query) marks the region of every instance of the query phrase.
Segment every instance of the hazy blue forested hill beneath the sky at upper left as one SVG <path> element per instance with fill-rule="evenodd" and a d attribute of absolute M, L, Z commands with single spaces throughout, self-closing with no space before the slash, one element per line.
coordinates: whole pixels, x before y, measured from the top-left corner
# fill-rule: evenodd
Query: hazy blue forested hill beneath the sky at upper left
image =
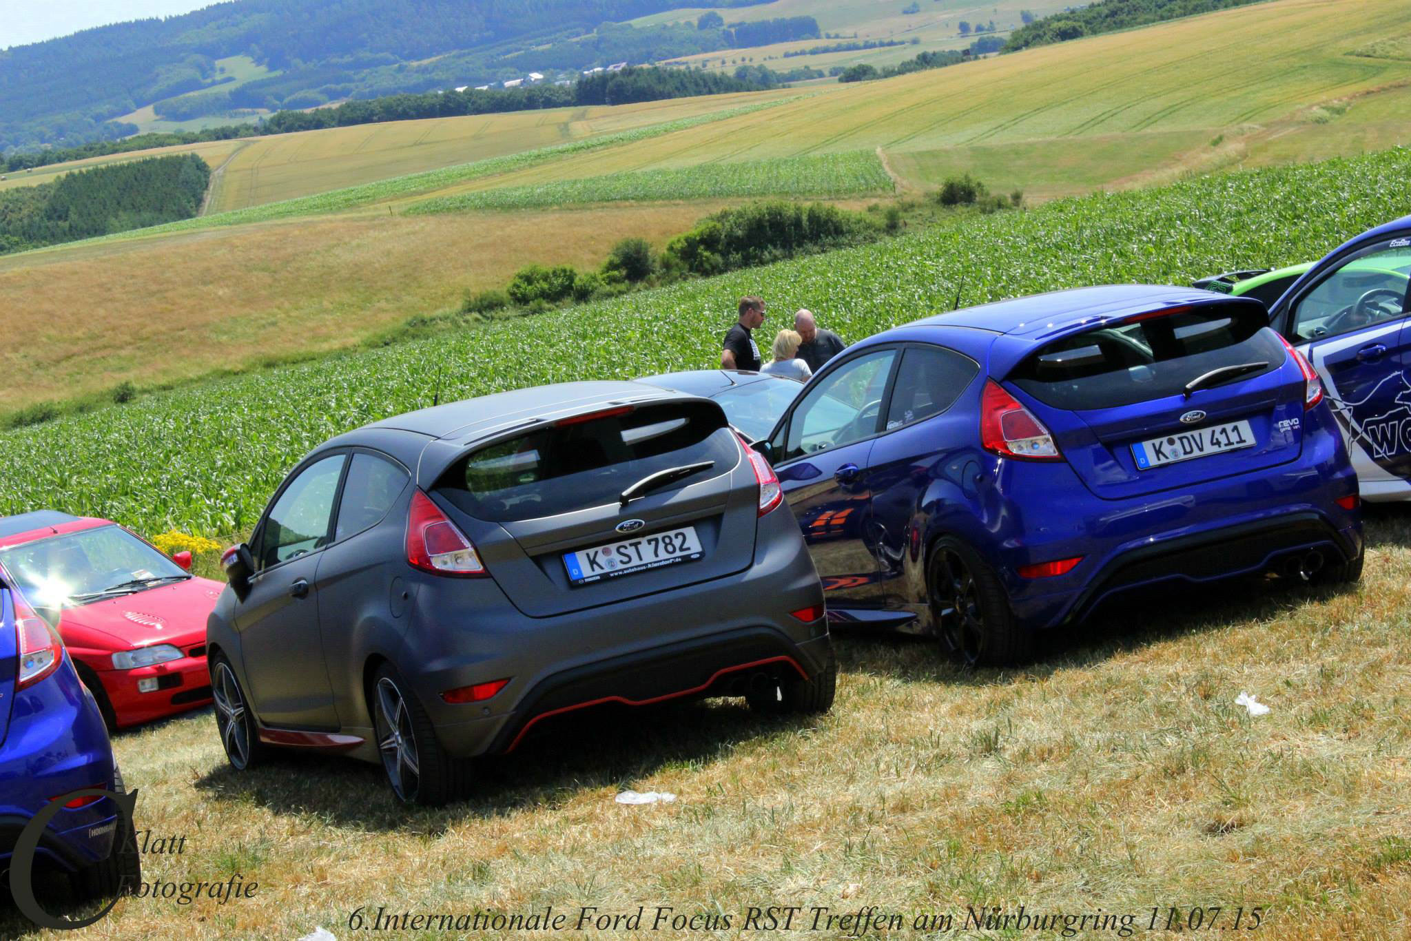
<path fill-rule="evenodd" d="M 751 6 L 765 0 L 737 0 Z M 165 20 L 85 30 L 0 51 L 0 150 L 80 142 L 134 133 L 111 119 L 158 100 L 212 87 L 216 59 L 244 55 L 286 79 L 277 89 L 343 82 L 384 71 L 370 96 L 413 87 L 416 63 L 456 51 L 466 80 L 494 56 L 569 40 L 605 21 L 689 6 L 690 0 L 231 0 Z M 511 72 L 512 73 L 512 72 Z M 224 76 L 227 82 L 234 80 Z M 437 76 L 439 78 L 439 76 Z M 508 78 L 508 76 L 507 76 Z M 426 85 L 426 82 L 423 82 Z M 277 103 L 281 100 L 275 96 Z"/>

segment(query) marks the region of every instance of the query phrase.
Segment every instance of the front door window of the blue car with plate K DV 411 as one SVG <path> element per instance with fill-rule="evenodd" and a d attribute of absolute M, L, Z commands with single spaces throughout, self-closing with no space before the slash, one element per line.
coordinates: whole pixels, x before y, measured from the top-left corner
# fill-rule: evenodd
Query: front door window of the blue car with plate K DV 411
<path fill-rule="evenodd" d="M 785 459 L 841 447 L 878 430 L 896 350 L 859 356 L 823 377 L 789 420 Z"/>

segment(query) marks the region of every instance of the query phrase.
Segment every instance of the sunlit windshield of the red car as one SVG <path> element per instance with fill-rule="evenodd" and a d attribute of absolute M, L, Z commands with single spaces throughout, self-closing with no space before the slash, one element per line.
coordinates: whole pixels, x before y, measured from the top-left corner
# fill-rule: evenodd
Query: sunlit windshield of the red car
<path fill-rule="evenodd" d="M 75 607 L 189 578 L 121 526 L 97 526 L 0 550 L 0 569 L 32 604 Z"/>

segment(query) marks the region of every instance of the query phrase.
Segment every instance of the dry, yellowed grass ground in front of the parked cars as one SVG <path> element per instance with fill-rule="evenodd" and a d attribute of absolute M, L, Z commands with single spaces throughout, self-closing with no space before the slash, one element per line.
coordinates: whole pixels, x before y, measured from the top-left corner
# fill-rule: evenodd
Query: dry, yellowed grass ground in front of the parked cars
<path fill-rule="evenodd" d="M 1024 670 L 962 673 L 926 642 L 840 636 L 825 718 L 761 721 L 734 701 L 611 714 L 488 762 L 478 796 L 440 811 L 394 806 L 380 770 L 349 760 L 236 775 L 209 714 L 178 720 L 116 742 L 140 825 L 189 834 L 147 878 L 238 870 L 258 903 L 124 900 L 76 937 L 350 937 L 349 913 L 380 904 L 672 906 L 735 913 L 737 928 L 751 904 L 957 924 L 967 904 L 1024 904 L 1143 927 L 1153 906 L 1263 906 L 1249 937 L 1404 938 L 1408 580 L 1411 515 L 1391 509 L 1373 514 L 1357 591 L 1271 581 L 1181 614 L 1136 604 Z M 1273 712 L 1247 717 L 1240 690 Z M 679 800 L 614 804 L 626 787 Z M 683 934 L 706 933 L 653 937 Z"/>

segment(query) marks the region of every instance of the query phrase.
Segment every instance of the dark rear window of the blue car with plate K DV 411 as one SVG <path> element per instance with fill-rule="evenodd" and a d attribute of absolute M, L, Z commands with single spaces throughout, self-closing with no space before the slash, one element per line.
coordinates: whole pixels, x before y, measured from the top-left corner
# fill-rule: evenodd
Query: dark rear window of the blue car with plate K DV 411
<path fill-rule="evenodd" d="M 1010 380 L 1046 405 L 1098 409 L 1180 395 L 1191 380 L 1226 365 L 1285 358 L 1267 315 L 1254 305 L 1202 305 L 1055 340 L 1024 360 Z"/>

